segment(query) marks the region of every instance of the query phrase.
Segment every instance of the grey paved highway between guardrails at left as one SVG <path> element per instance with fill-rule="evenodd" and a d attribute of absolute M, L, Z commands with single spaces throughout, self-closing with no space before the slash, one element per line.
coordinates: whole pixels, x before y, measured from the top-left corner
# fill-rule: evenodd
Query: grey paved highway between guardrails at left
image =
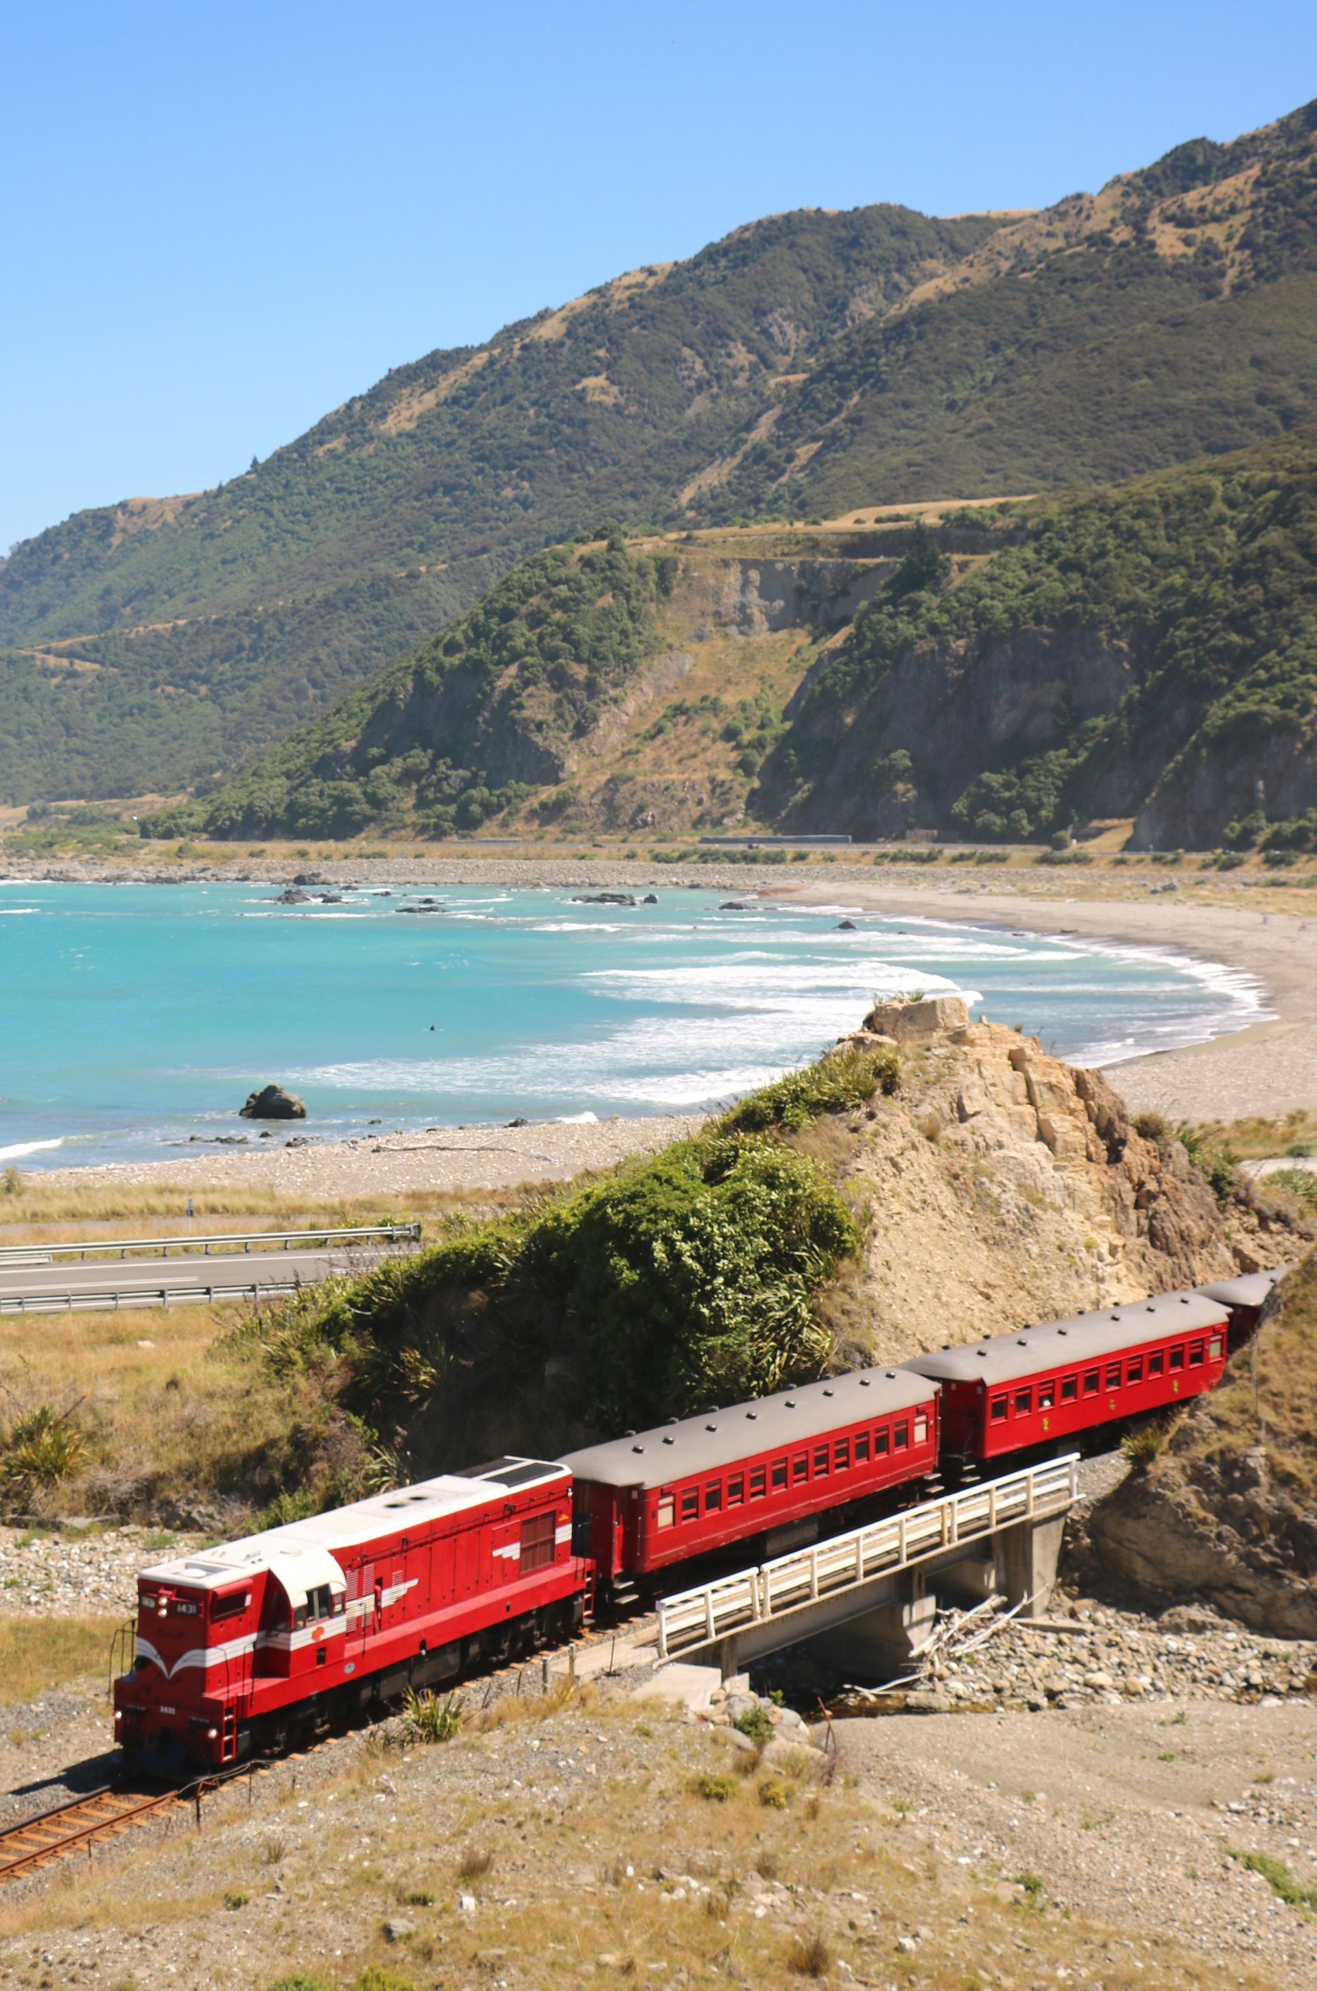
<path fill-rule="evenodd" d="M 40 1246 L 38 1246 L 40 1250 Z M 161 1288 L 179 1296 L 197 1286 L 291 1286 L 313 1284 L 333 1272 L 361 1272 L 381 1258 L 396 1256 L 398 1246 L 355 1244 L 313 1250 L 269 1252 L 181 1252 L 171 1258 L 92 1258 L 52 1264 L 0 1264 L 0 1308 L 18 1300 L 56 1300 L 66 1294 L 74 1304 L 88 1304 L 94 1294 L 118 1294 L 120 1304 L 132 1304 L 133 1294 L 159 1304 Z"/>

